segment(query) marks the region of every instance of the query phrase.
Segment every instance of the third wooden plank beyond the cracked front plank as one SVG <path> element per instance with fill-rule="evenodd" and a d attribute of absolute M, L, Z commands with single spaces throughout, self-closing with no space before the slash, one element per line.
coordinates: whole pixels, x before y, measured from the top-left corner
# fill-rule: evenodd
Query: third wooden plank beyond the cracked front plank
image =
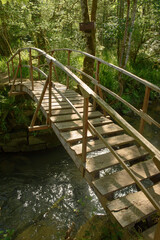
<path fill-rule="evenodd" d="M 92 120 L 90 120 L 90 122 L 92 123 Z M 134 141 L 134 138 L 132 138 L 126 134 L 122 134 L 122 135 L 106 138 L 106 141 L 111 146 L 121 146 L 121 145 L 132 143 Z M 92 152 L 92 151 L 99 150 L 99 149 L 102 149 L 105 147 L 106 147 L 105 144 L 101 140 L 91 140 L 87 143 L 87 152 Z M 82 144 L 81 143 L 76 144 L 76 145 L 72 146 L 71 148 L 78 155 L 82 153 Z"/>

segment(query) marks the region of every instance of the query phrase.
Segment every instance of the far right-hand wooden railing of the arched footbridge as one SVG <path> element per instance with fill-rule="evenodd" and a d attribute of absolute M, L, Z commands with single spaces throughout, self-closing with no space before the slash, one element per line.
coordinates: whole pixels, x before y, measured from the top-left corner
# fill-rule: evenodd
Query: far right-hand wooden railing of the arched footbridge
<path fill-rule="evenodd" d="M 142 134 L 143 130 L 144 130 L 144 123 L 147 122 L 148 124 L 154 124 L 155 126 L 157 126 L 158 128 L 160 128 L 160 123 L 157 122 L 156 120 L 154 120 L 150 115 L 147 114 L 148 111 L 148 104 L 149 104 L 149 97 L 150 97 L 150 92 L 155 91 L 157 93 L 160 93 L 160 88 L 120 67 L 115 66 L 114 64 L 108 63 L 100 58 L 97 58 L 95 56 L 92 56 L 86 52 L 82 52 L 82 51 L 78 51 L 78 50 L 73 50 L 73 49 L 68 49 L 68 48 L 64 48 L 64 49 L 54 49 L 51 52 L 58 52 L 58 51 L 67 51 L 68 52 L 68 68 L 70 68 L 71 70 L 75 70 L 77 72 L 80 72 L 82 75 L 84 75 L 85 77 L 88 77 L 88 79 L 91 80 L 91 82 L 95 85 L 95 92 L 98 93 L 98 95 L 103 98 L 103 93 L 102 90 L 107 92 L 108 94 L 110 94 L 111 96 L 113 96 L 115 99 L 117 99 L 118 101 L 122 102 L 123 104 L 125 104 L 129 109 L 131 109 L 134 113 L 136 113 L 138 116 L 140 116 L 140 126 L 139 126 L 139 132 Z M 95 60 L 96 62 L 96 73 L 95 73 L 95 79 L 93 78 L 93 76 L 89 76 L 86 73 L 82 72 L 80 69 L 74 68 L 72 66 L 70 66 L 70 56 L 71 56 L 71 52 L 75 52 L 75 53 L 79 53 L 82 54 L 84 56 L 87 56 L 89 58 L 92 58 Z M 104 64 L 107 65 L 115 70 L 117 70 L 118 72 L 121 72 L 124 75 L 129 76 L 130 78 L 140 82 L 142 85 L 144 85 L 145 87 L 145 95 L 144 95 L 144 100 L 143 100 L 143 106 L 142 109 L 138 110 L 137 108 L 135 108 L 133 105 L 131 105 L 130 103 L 128 103 L 126 100 L 124 100 L 122 97 L 118 96 L 116 93 L 114 93 L 113 91 L 111 91 L 110 89 L 106 88 L 105 86 L 101 85 L 101 80 L 99 79 L 99 72 L 100 72 L 100 64 Z"/>

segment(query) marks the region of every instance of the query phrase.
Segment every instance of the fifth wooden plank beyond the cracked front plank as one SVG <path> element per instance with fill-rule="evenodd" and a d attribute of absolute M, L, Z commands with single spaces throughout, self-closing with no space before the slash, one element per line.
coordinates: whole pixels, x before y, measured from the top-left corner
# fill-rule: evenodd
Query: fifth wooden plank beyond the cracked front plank
<path fill-rule="evenodd" d="M 92 113 L 94 113 L 94 112 L 92 112 Z M 89 113 L 89 115 L 91 117 L 94 117 L 94 115 L 92 116 L 92 114 L 90 114 L 90 113 Z M 105 118 L 105 117 L 99 117 L 99 118 L 90 119 L 90 122 L 94 126 L 99 126 L 99 125 L 111 123 L 112 120 L 110 120 L 108 118 Z M 77 120 L 77 121 L 72 121 L 72 122 L 56 123 L 56 126 L 60 131 L 74 130 L 74 129 L 82 128 L 83 127 L 83 121 L 82 120 Z"/>

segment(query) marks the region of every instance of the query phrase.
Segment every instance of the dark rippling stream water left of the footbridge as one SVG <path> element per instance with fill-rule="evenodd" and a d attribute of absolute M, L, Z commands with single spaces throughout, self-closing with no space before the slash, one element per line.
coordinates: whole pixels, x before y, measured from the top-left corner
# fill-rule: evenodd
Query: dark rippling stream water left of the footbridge
<path fill-rule="evenodd" d="M 103 213 L 63 147 L 1 154 L 0 207 L 0 230 L 30 228 L 28 239 L 47 239 L 46 231 L 48 239 L 64 239 L 72 222 L 78 229 L 93 213 Z"/>

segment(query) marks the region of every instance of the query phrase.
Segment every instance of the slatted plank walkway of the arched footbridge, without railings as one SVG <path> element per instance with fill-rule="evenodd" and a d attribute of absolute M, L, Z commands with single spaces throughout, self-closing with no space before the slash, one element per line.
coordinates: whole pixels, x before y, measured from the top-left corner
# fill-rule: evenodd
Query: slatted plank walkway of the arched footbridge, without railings
<path fill-rule="evenodd" d="M 30 82 L 23 83 L 21 86 L 17 84 L 15 91 L 27 92 L 38 103 L 44 82 L 35 81 L 34 84 L 34 91 L 31 90 Z M 56 88 L 63 92 L 83 116 L 83 97 L 73 90 L 67 90 L 62 84 L 56 83 Z M 41 105 L 45 116 L 48 112 L 48 99 L 47 89 Z M 53 130 L 76 166 L 84 173 L 85 179 L 97 194 L 106 212 L 110 213 L 122 227 L 134 226 L 156 212 L 126 170 L 120 166 L 118 160 L 101 140 L 92 136 L 90 131 L 87 132 L 87 160 L 86 164 L 82 163 L 83 122 L 54 89 L 52 90 L 50 120 Z M 89 104 L 89 120 L 130 166 L 137 178 L 149 189 L 153 198 L 160 202 L 160 173 L 151 160 L 149 152 L 112 121 L 110 116 L 104 117 L 100 111 L 94 111 L 91 103 Z M 151 232 L 148 234 L 152 235 Z"/>

